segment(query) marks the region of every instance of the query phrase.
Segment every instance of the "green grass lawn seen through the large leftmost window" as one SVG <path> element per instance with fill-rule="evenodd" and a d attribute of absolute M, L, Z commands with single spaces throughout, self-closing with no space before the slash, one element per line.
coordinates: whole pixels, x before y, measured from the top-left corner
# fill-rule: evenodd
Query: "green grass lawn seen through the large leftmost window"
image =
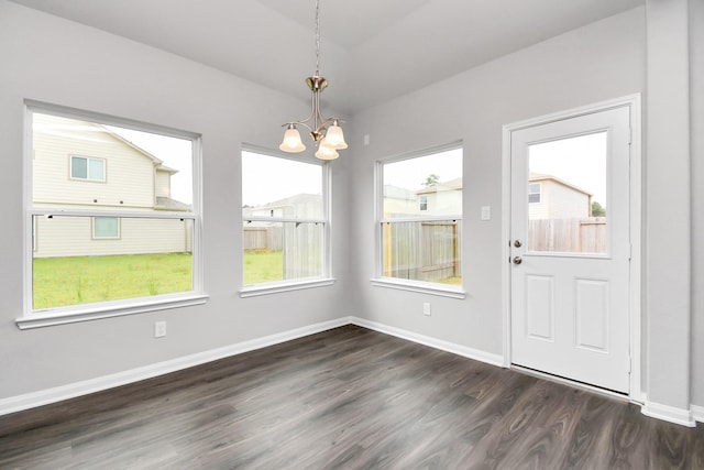
<path fill-rule="evenodd" d="M 34 309 L 193 289 L 189 253 L 37 258 Z"/>

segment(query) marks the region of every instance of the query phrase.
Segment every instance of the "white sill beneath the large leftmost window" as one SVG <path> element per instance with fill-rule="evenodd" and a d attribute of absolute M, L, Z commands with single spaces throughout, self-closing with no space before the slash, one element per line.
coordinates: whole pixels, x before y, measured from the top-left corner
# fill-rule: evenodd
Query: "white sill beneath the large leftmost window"
<path fill-rule="evenodd" d="M 31 329 L 55 325 L 90 321 L 100 318 L 121 317 L 124 315 L 143 314 L 147 311 L 166 310 L 178 307 L 202 305 L 208 302 L 206 294 L 180 295 L 178 297 L 161 298 L 157 300 L 120 303 L 120 305 L 101 305 L 95 307 L 76 307 L 75 309 L 53 310 L 50 313 L 34 313 L 15 319 L 18 328 Z"/>

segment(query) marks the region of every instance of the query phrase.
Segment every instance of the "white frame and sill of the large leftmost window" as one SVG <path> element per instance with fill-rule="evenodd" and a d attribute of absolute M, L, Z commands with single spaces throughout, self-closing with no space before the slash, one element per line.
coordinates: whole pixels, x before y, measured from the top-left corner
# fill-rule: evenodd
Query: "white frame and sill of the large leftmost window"
<path fill-rule="evenodd" d="M 32 124 L 33 114 L 54 114 L 69 119 L 98 122 L 106 125 L 116 125 L 125 129 L 152 132 L 166 136 L 190 140 L 193 145 L 193 211 L 190 212 L 145 212 L 130 210 L 109 210 L 96 208 L 96 210 L 75 208 L 42 208 L 33 205 L 33 172 L 32 172 Z M 202 196 L 201 196 L 201 144 L 200 135 L 194 132 L 182 131 L 144 123 L 131 119 L 117 118 L 91 111 L 84 111 L 63 106 L 50 105 L 40 101 L 25 100 L 24 102 L 24 159 L 23 159 L 23 206 L 24 206 L 24 309 L 21 317 L 15 319 L 20 329 L 41 328 L 55 325 L 88 321 L 100 318 L 111 318 L 123 315 L 134 315 L 148 311 L 165 310 L 176 307 L 201 305 L 208 300 L 204 291 L 202 275 Z M 69 168 L 70 170 L 70 168 Z M 107 171 L 107 168 L 106 168 Z M 32 261 L 35 249 L 35 232 L 33 218 L 35 216 L 65 216 L 65 217 L 118 217 L 118 218 L 160 218 L 160 219 L 191 219 L 193 220 L 193 289 L 174 294 L 163 294 L 148 297 L 133 297 L 119 300 L 108 300 L 91 304 L 78 304 L 64 307 L 35 310 L 33 308 L 33 281 Z"/>

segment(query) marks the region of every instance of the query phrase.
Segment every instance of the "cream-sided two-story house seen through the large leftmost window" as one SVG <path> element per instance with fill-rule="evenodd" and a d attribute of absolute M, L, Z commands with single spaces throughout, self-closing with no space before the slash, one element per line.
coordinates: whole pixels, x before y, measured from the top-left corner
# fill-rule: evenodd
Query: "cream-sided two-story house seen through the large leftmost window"
<path fill-rule="evenodd" d="M 76 122 L 35 114 L 33 204 L 45 207 L 51 217 L 35 218 L 34 256 L 190 252 L 190 219 L 61 215 L 87 208 L 191 210 L 170 198 L 170 178 L 177 170 L 106 127 L 84 122 L 76 130 Z"/>

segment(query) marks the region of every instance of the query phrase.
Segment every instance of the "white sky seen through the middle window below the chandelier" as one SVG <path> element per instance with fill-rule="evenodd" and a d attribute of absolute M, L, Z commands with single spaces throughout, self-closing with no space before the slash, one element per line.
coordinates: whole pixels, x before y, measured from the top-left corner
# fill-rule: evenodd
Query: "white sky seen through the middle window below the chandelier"
<path fill-rule="evenodd" d="M 322 194 L 322 166 L 242 152 L 242 205 L 256 207 L 297 194 Z"/>

